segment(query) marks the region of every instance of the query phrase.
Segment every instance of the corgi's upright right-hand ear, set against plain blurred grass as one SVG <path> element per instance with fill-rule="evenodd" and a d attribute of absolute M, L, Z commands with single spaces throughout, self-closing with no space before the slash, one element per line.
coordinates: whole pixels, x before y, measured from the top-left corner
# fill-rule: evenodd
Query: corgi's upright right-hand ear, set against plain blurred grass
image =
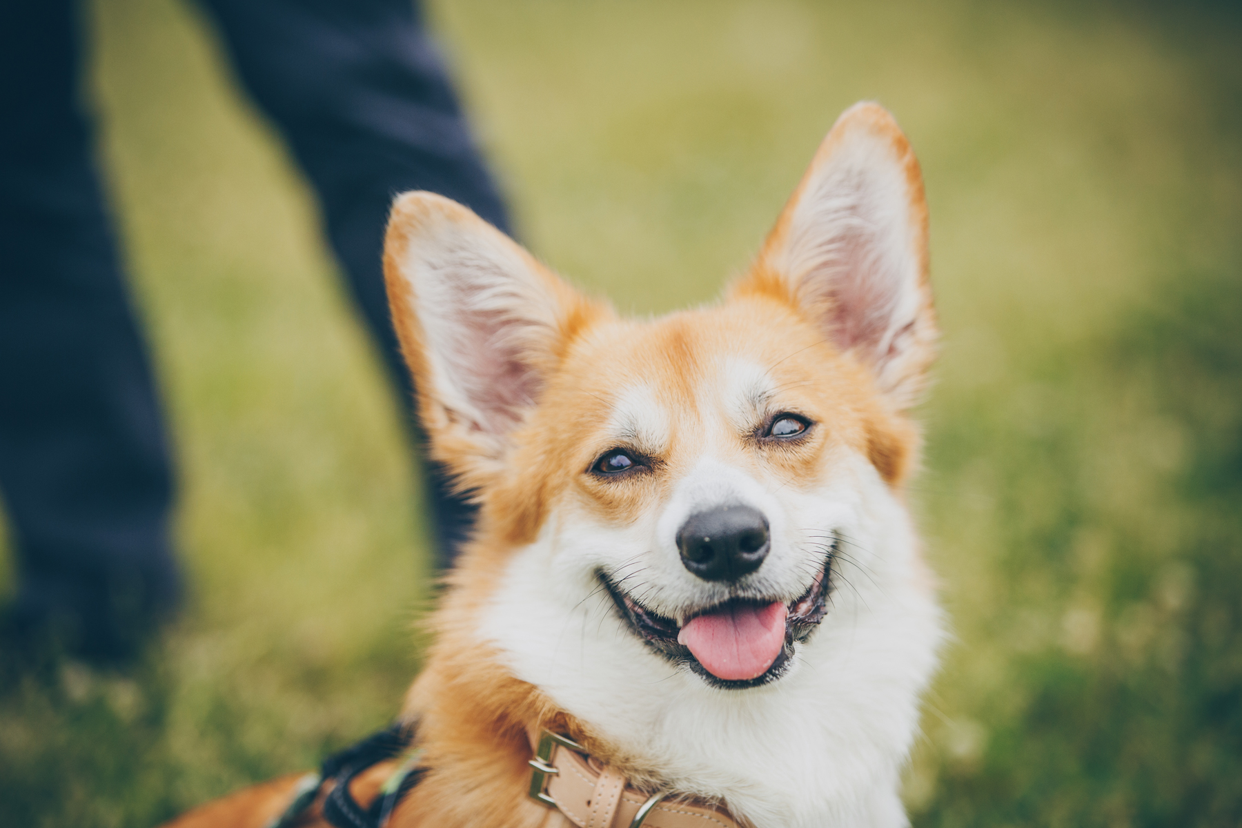
<path fill-rule="evenodd" d="M 734 295 L 790 302 L 871 370 L 894 408 L 908 408 L 935 358 L 927 216 L 919 163 L 897 122 L 879 104 L 854 104 Z"/>

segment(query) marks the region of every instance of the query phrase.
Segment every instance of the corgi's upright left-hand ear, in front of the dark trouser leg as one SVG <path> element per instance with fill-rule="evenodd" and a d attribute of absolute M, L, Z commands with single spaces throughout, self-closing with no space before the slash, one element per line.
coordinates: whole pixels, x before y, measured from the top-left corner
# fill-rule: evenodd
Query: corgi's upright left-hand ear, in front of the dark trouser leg
<path fill-rule="evenodd" d="M 432 192 L 392 205 L 384 277 L 432 456 L 462 488 L 484 485 L 574 334 L 602 309 Z"/>

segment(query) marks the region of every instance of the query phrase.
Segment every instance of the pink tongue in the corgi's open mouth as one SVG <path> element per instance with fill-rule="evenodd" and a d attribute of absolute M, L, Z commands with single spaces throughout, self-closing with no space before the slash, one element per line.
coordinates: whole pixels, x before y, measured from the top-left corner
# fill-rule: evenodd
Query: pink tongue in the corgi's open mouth
<path fill-rule="evenodd" d="M 686 622 L 677 643 L 689 647 L 699 664 L 717 678 L 753 679 L 766 673 L 780 655 L 787 612 L 780 601 L 765 607 L 729 603 Z"/>

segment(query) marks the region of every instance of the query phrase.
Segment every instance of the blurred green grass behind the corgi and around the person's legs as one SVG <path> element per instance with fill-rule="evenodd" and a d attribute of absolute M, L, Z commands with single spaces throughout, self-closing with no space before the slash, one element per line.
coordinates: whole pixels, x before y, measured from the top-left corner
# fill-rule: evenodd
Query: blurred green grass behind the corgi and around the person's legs
<path fill-rule="evenodd" d="M 914 822 L 1242 824 L 1237 11 L 430 11 L 523 240 L 638 313 L 741 269 L 845 107 L 897 114 L 945 331 L 912 495 L 956 632 Z M 315 765 L 396 710 L 430 595 L 399 413 L 306 185 L 193 6 L 89 24 L 193 595 L 135 670 L 6 677 L 6 826 L 148 826 Z"/>

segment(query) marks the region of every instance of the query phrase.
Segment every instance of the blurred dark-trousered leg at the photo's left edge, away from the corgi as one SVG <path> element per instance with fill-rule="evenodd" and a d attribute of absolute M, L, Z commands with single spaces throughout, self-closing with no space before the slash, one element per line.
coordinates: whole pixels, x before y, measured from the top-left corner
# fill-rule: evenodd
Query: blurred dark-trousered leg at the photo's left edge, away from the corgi
<path fill-rule="evenodd" d="M 173 483 L 79 99 L 76 0 L 0 10 L 0 492 L 9 626 L 124 657 L 170 608 Z"/>

